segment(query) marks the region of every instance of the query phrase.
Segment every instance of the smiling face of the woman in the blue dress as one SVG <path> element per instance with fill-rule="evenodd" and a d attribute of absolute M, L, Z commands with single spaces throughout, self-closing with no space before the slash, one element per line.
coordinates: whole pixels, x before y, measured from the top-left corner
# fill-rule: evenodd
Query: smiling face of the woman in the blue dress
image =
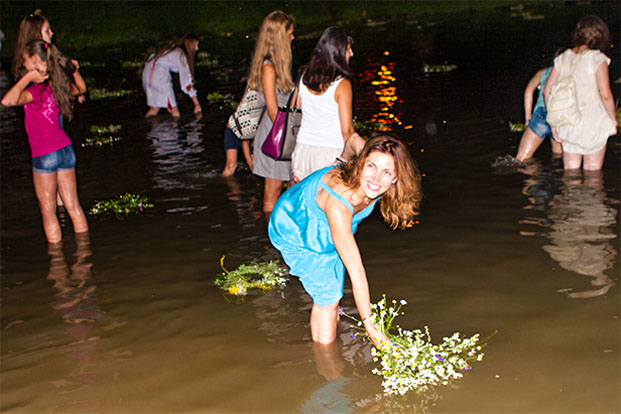
<path fill-rule="evenodd" d="M 360 172 L 360 188 L 369 199 L 384 194 L 397 178 L 392 155 L 379 151 L 369 153 Z"/>

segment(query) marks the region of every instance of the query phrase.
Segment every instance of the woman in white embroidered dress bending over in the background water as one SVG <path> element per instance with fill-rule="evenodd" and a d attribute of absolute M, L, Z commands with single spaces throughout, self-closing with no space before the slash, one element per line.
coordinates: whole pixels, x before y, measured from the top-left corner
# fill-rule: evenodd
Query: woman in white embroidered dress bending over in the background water
<path fill-rule="evenodd" d="M 194 86 L 194 55 L 197 50 L 198 37 L 187 33 L 183 35 L 179 44 L 164 46 L 149 56 L 142 71 L 142 87 L 149 106 L 146 117 L 157 115 L 160 108 L 167 108 L 172 116 L 179 117 L 170 72 L 179 74 L 181 90 L 192 99 L 194 113 L 202 112 Z"/>

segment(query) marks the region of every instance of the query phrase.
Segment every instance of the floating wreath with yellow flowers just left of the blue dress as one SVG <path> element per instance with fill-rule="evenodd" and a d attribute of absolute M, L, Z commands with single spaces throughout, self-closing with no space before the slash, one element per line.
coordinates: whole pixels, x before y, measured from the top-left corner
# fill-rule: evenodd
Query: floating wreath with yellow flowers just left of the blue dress
<path fill-rule="evenodd" d="M 216 286 L 229 295 L 247 295 L 249 289 L 270 290 L 284 287 L 289 274 L 287 267 L 278 260 L 267 263 L 242 264 L 235 270 L 224 268 L 224 257 L 220 259 L 220 267 L 224 271 L 216 279 Z"/>

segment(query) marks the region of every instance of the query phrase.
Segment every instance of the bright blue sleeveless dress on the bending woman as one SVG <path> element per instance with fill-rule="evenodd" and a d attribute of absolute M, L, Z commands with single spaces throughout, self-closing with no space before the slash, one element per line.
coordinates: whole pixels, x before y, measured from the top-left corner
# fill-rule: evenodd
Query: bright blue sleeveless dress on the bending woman
<path fill-rule="evenodd" d="M 289 266 L 289 272 L 300 278 L 304 289 L 318 306 L 327 306 L 343 297 L 345 265 L 341 260 L 328 224 L 328 217 L 317 205 L 319 186 L 347 206 L 352 205 L 321 179 L 334 166 L 315 171 L 280 196 L 268 225 L 270 241 Z M 371 214 L 373 201 L 352 218 L 351 231 Z"/>

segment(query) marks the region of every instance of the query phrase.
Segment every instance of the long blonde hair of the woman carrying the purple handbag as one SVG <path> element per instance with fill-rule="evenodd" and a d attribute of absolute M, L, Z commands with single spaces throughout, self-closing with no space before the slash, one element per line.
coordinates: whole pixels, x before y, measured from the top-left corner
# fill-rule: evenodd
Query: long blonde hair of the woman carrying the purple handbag
<path fill-rule="evenodd" d="M 271 12 L 263 19 L 246 76 L 251 89 L 263 91 L 261 71 L 265 60 L 274 65 L 276 89 L 288 93 L 293 88 L 291 39 L 287 31 L 293 28 L 294 23 L 293 16 L 280 10 Z"/>

